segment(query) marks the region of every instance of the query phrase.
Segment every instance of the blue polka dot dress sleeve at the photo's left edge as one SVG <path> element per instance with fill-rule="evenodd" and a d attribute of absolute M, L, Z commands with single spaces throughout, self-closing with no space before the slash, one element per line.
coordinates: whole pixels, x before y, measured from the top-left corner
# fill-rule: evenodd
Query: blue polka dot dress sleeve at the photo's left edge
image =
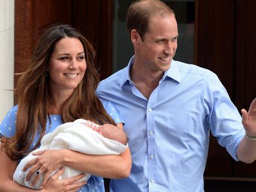
<path fill-rule="evenodd" d="M 0 124 L 0 137 L 10 138 L 16 134 L 17 105 L 12 107 Z"/>

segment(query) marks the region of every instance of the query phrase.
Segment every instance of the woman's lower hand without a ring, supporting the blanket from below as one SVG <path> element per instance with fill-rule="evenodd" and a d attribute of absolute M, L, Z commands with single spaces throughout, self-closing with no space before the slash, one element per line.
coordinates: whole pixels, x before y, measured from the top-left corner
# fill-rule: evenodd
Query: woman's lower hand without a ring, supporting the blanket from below
<path fill-rule="evenodd" d="M 52 175 L 47 180 L 47 184 L 43 189 L 41 189 L 41 192 L 75 192 L 78 191 L 83 185 L 85 185 L 87 182 L 78 182 L 85 174 L 80 174 L 78 176 L 73 176 L 71 178 L 66 178 L 63 180 L 58 180 L 59 176 L 61 176 L 64 172 L 64 169 L 61 168 L 54 175 Z"/>

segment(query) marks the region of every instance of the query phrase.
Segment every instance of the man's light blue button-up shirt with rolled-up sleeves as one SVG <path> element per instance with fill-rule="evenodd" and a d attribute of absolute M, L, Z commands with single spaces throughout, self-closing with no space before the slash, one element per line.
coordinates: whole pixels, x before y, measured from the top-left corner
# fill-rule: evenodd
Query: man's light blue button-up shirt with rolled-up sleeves
<path fill-rule="evenodd" d="M 213 72 L 174 60 L 147 100 L 129 75 L 133 62 L 96 91 L 122 114 L 133 158 L 129 178 L 112 180 L 111 190 L 204 191 L 209 131 L 237 160 L 245 133 L 237 108 Z"/>

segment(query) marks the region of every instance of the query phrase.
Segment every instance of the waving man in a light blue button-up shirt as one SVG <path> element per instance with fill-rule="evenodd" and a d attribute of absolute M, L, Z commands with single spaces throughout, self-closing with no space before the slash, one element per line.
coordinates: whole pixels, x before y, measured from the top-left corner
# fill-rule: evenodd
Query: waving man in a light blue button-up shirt
<path fill-rule="evenodd" d="M 131 175 L 112 191 L 204 191 L 209 131 L 235 160 L 256 157 L 256 100 L 243 123 L 213 72 L 173 60 L 175 13 L 158 0 L 136 1 L 127 30 L 134 46 L 128 66 L 101 81 L 97 94 L 112 101 L 125 122 Z"/>

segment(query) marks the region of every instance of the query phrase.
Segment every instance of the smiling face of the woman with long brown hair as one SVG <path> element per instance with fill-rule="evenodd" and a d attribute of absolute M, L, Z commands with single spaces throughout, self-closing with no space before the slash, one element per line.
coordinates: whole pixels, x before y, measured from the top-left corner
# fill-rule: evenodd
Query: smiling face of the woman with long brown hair
<path fill-rule="evenodd" d="M 74 91 L 83 79 L 85 70 L 85 52 L 81 41 L 74 37 L 60 39 L 48 65 L 51 90 Z"/>

